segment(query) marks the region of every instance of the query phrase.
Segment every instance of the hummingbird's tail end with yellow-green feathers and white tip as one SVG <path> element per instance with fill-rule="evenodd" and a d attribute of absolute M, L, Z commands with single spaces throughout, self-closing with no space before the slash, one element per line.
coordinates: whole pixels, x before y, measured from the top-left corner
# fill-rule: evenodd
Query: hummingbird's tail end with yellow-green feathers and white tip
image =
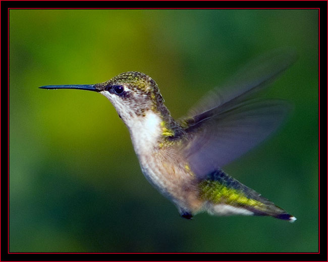
<path fill-rule="evenodd" d="M 216 215 L 270 215 L 296 221 L 296 217 L 246 187 L 222 170 L 215 170 L 199 184 L 200 197 L 209 213 Z"/>

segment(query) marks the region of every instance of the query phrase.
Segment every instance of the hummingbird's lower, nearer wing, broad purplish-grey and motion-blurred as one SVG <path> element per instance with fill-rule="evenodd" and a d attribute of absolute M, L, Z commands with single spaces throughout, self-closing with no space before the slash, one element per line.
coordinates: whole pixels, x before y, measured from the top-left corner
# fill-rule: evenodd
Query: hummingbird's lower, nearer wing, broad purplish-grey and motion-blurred
<path fill-rule="evenodd" d="M 185 154 L 199 177 L 230 163 L 279 127 L 289 106 L 263 100 L 222 112 L 187 128 L 192 140 Z"/>

